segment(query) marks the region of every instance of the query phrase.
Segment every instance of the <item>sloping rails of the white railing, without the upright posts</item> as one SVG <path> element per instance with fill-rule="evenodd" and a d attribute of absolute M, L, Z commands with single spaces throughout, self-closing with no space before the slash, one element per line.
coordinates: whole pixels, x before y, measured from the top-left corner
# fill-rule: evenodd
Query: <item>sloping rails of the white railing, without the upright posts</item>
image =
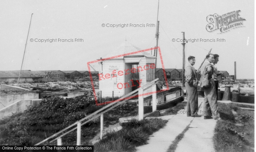
<path fill-rule="evenodd" d="M 40 141 L 39 143 L 37 143 L 37 144 L 35 144 L 35 145 L 39 145 L 39 144 L 41 144 L 41 143 L 44 143 L 45 141 L 48 141 L 49 139 L 51 139 L 51 138 L 53 138 L 53 137 L 59 135 L 60 133 L 66 131 L 67 129 L 73 127 L 74 125 L 77 125 L 77 124 L 81 123 L 82 121 L 84 121 L 84 120 L 86 120 L 86 119 L 92 117 L 92 118 L 90 118 L 89 120 L 87 120 L 87 121 L 85 121 L 84 123 L 82 123 L 81 126 L 84 125 L 84 124 L 86 124 L 86 123 L 88 123 L 89 121 L 95 119 L 96 117 L 102 115 L 103 113 L 106 113 L 106 112 L 110 111 L 111 109 L 117 107 L 118 105 L 124 103 L 125 101 L 127 101 L 127 100 L 129 100 L 129 99 L 131 99 L 131 98 L 133 98 L 133 97 L 135 97 L 135 96 L 137 96 L 138 93 L 136 93 L 136 92 L 146 90 L 146 89 L 150 88 L 152 85 L 157 84 L 158 81 L 159 81 L 158 78 L 155 79 L 155 80 L 153 80 L 153 81 L 150 81 L 149 83 L 145 84 L 144 86 L 142 86 L 142 87 L 140 87 L 140 88 L 138 88 L 138 89 L 136 89 L 136 90 L 134 90 L 134 91 L 128 93 L 127 95 L 124 95 L 123 97 L 117 99 L 116 101 L 114 101 L 114 102 L 112 102 L 112 103 L 106 105 L 105 107 L 102 107 L 101 109 L 99 109 L 99 110 L 97 110 L 97 111 L 91 113 L 90 115 L 84 117 L 83 119 L 80 119 L 80 120 L 76 121 L 75 123 L 69 125 L 68 127 L 62 129 L 61 131 L 59 131 L 59 132 L 57 132 L 57 133 L 54 133 L 52 136 L 50 136 L 50 137 L 48 137 L 48 138 L 46 138 L 46 139 Z M 136 94 L 135 94 L 135 95 L 132 95 L 133 93 L 136 93 Z M 154 92 L 153 92 L 153 93 L 154 93 Z M 156 93 L 156 92 L 155 92 L 155 93 Z M 144 95 L 144 94 L 138 95 L 138 96 L 143 96 L 143 95 Z M 147 93 L 147 95 L 148 95 L 148 93 Z M 122 101 L 122 100 L 123 100 L 123 101 Z M 121 102 L 118 102 L 118 101 L 121 101 Z M 116 104 L 116 105 L 114 105 L 114 104 Z M 107 109 L 107 108 L 108 108 L 108 109 Z M 106 110 L 105 110 L 105 109 L 106 109 Z M 105 110 L 105 111 L 103 111 L 103 110 Z M 101 113 L 99 113 L 99 112 L 101 112 Z M 97 114 L 97 115 L 95 115 L 95 114 Z M 95 115 L 95 116 L 94 116 L 94 115 Z M 70 131 L 68 131 L 68 132 L 66 132 L 66 133 L 63 133 L 62 135 L 59 135 L 57 138 L 53 139 L 52 141 L 59 139 L 60 137 L 66 135 L 67 133 L 69 133 L 69 132 L 71 132 L 71 131 L 74 131 L 76 128 L 77 128 L 77 127 L 71 129 Z M 50 142 L 52 142 L 52 141 L 50 141 Z"/>

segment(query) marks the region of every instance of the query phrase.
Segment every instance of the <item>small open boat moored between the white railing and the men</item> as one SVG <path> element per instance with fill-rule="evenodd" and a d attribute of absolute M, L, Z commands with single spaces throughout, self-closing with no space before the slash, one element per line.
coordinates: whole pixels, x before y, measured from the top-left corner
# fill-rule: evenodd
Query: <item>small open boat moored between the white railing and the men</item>
<path fill-rule="evenodd" d="M 181 87 L 170 87 L 169 90 L 157 93 L 157 110 L 173 107 L 181 101 L 184 101 Z M 148 112 L 152 112 L 152 95 L 144 98 L 144 113 Z"/>

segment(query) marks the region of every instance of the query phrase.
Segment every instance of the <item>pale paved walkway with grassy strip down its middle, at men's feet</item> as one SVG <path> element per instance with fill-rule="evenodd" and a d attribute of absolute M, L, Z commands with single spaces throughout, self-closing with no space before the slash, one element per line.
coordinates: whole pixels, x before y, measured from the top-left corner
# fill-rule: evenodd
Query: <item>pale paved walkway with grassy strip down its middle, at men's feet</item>
<path fill-rule="evenodd" d="M 203 115 L 203 97 L 198 98 L 199 115 Z M 185 100 L 186 101 L 186 100 Z M 201 113 L 200 113 L 201 110 Z M 166 126 L 153 133 L 148 144 L 137 147 L 137 152 L 166 152 L 172 141 L 190 124 L 175 152 L 214 152 L 212 137 L 217 120 L 204 117 L 187 117 L 185 109 L 177 115 L 161 116 L 168 120 Z"/>

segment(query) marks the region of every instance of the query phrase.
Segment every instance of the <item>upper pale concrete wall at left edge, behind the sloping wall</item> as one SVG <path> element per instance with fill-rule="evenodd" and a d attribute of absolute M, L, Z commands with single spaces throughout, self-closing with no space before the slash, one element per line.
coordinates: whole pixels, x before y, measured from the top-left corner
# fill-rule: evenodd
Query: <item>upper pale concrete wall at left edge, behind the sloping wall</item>
<path fill-rule="evenodd" d="M 39 99 L 39 93 L 5 93 L 0 94 L 0 109 L 20 100 Z"/>

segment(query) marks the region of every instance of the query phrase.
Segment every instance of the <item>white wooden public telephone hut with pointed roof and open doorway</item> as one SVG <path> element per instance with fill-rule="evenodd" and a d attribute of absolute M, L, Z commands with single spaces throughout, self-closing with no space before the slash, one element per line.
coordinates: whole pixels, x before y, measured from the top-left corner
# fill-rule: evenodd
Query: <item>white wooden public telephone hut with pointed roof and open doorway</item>
<path fill-rule="evenodd" d="M 124 96 L 155 79 L 155 56 L 124 41 L 102 56 L 99 62 L 99 90 L 102 97 Z M 151 89 L 144 91 L 151 92 Z"/>

